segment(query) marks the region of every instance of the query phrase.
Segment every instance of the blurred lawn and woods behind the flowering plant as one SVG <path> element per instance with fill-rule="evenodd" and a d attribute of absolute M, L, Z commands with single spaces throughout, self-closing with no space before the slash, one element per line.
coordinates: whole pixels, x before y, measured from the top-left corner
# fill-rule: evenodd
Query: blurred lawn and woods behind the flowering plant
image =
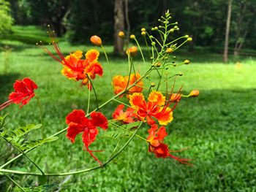
<path fill-rule="evenodd" d="M 167 126 L 165 143 L 171 150 L 189 147 L 175 155 L 195 159 L 194 166 L 155 158 L 148 153 L 147 143 L 135 138 L 105 169 L 44 181 L 10 174 L 13 180 L 27 191 L 256 191 L 255 0 L 0 0 L 0 104 L 7 101 L 15 80 L 30 77 L 39 87 L 36 93 L 43 107 L 45 135 L 65 128 L 65 118 L 72 109 L 86 110 L 88 91 L 61 75 L 61 64 L 35 45 L 40 40 L 45 45 L 49 42 L 47 25 L 56 31 L 64 55 L 75 50 L 99 50 L 104 74 L 94 80 L 94 85 L 102 104 L 113 96 L 111 75 L 104 53 L 90 44 L 89 37 L 96 34 L 102 38 L 113 74 L 127 75 L 127 57 L 118 42 L 118 31 L 124 31 L 127 37 L 136 35 L 151 65 L 140 28 L 154 34 L 151 27 L 159 25 L 157 20 L 167 9 L 179 28 L 171 39 L 186 34 L 193 38 L 173 53 L 177 64 L 185 59 L 191 64 L 167 69 L 170 75 L 183 74 L 177 77 L 174 91 L 183 85 L 182 93 L 199 89 L 200 96 L 181 99 L 173 122 Z M 132 40 L 129 43 L 135 45 Z M 139 54 L 133 61 L 137 72 L 148 69 Z M 144 85 L 158 82 L 157 77 L 151 74 Z M 173 80 L 168 85 L 170 88 Z M 111 118 L 117 105 L 111 102 L 101 112 Z M 91 94 L 90 110 L 95 107 Z M 10 131 L 40 123 L 36 99 L 22 109 L 12 104 L 0 115 L 6 113 Z M 39 139 L 39 135 L 32 133 L 26 139 Z M 140 135 L 148 136 L 146 127 L 140 129 Z M 117 143 L 120 147 L 126 141 L 100 130 L 91 150 L 104 150 L 97 158 L 105 161 Z M 4 141 L 0 141 L 0 148 L 0 164 L 19 154 Z M 83 151 L 81 138 L 71 144 L 65 133 L 28 155 L 48 173 L 97 166 Z M 37 172 L 26 158 L 18 158 L 6 169 Z M 0 191 L 18 188 L 0 175 Z"/>

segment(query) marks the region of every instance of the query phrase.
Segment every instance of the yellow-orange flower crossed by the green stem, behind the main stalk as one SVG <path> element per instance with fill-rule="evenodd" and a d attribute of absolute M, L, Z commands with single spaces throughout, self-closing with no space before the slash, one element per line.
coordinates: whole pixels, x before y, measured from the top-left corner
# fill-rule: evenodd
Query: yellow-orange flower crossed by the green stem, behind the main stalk
<path fill-rule="evenodd" d="M 140 74 L 138 73 L 131 74 L 130 77 L 129 76 L 123 77 L 121 75 L 116 75 L 115 77 L 113 77 L 114 93 L 115 94 L 121 93 L 130 85 L 133 85 L 139 79 L 140 79 Z M 129 83 L 128 83 L 128 80 L 129 80 Z M 132 93 L 140 93 L 141 91 L 143 91 L 143 88 L 141 88 L 143 86 L 143 82 L 141 80 L 136 82 L 136 85 L 133 86 L 132 88 L 129 88 L 129 90 L 127 90 L 126 93 L 132 94 Z M 124 94 L 120 95 L 120 97 L 122 96 L 124 96 Z"/>

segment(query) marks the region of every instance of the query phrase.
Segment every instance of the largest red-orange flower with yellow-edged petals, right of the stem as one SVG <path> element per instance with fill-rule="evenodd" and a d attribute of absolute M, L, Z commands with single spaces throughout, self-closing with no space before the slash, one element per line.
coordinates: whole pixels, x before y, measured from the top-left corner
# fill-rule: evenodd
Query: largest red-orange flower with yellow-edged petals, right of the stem
<path fill-rule="evenodd" d="M 147 120 L 149 125 L 153 125 L 156 118 L 160 125 L 167 126 L 173 120 L 173 109 L 168 107 L 172 102 L 166 101 L 165 96 L 159 91 L 152 91 L 146 102 L 143 93 L 133 93 L 129 97 L 129 103 L 135 108 L 135 113 L 140 120 Z"/>

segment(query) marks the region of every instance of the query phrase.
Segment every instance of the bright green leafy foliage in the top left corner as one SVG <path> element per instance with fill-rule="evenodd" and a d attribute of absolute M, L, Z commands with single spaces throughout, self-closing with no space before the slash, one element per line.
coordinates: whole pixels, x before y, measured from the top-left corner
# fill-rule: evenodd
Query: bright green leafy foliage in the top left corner
<path fill-rule="evenodd" d="M 0 35 L 4 35 L 12 28 L 13 19 L 10 15 L 10 4 L 0 0 Z"/>

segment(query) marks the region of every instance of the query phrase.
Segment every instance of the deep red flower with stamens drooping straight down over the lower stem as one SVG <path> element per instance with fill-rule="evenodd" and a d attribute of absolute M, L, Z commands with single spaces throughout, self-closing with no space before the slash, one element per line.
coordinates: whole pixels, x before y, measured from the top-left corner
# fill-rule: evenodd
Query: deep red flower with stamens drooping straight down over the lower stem
<path fill-rule="evenodd" d="M 89 146 L 97 137 L 99 133 L 97 127 L 101 127 L 104 130 L 108 128 L 108 120 L 101 112 L 92 112 L 91 119 L 86 118 L 86 113 L 83 110 L 73 110 L 67 115 L 66 123 L 69 126 L 67 128 L 67 138 L 71 142 L 75 142 L 75 137 L 82 133 L 83 143 L 86 150 L 90 155 L 102 164 L 89 150 Z"/>

